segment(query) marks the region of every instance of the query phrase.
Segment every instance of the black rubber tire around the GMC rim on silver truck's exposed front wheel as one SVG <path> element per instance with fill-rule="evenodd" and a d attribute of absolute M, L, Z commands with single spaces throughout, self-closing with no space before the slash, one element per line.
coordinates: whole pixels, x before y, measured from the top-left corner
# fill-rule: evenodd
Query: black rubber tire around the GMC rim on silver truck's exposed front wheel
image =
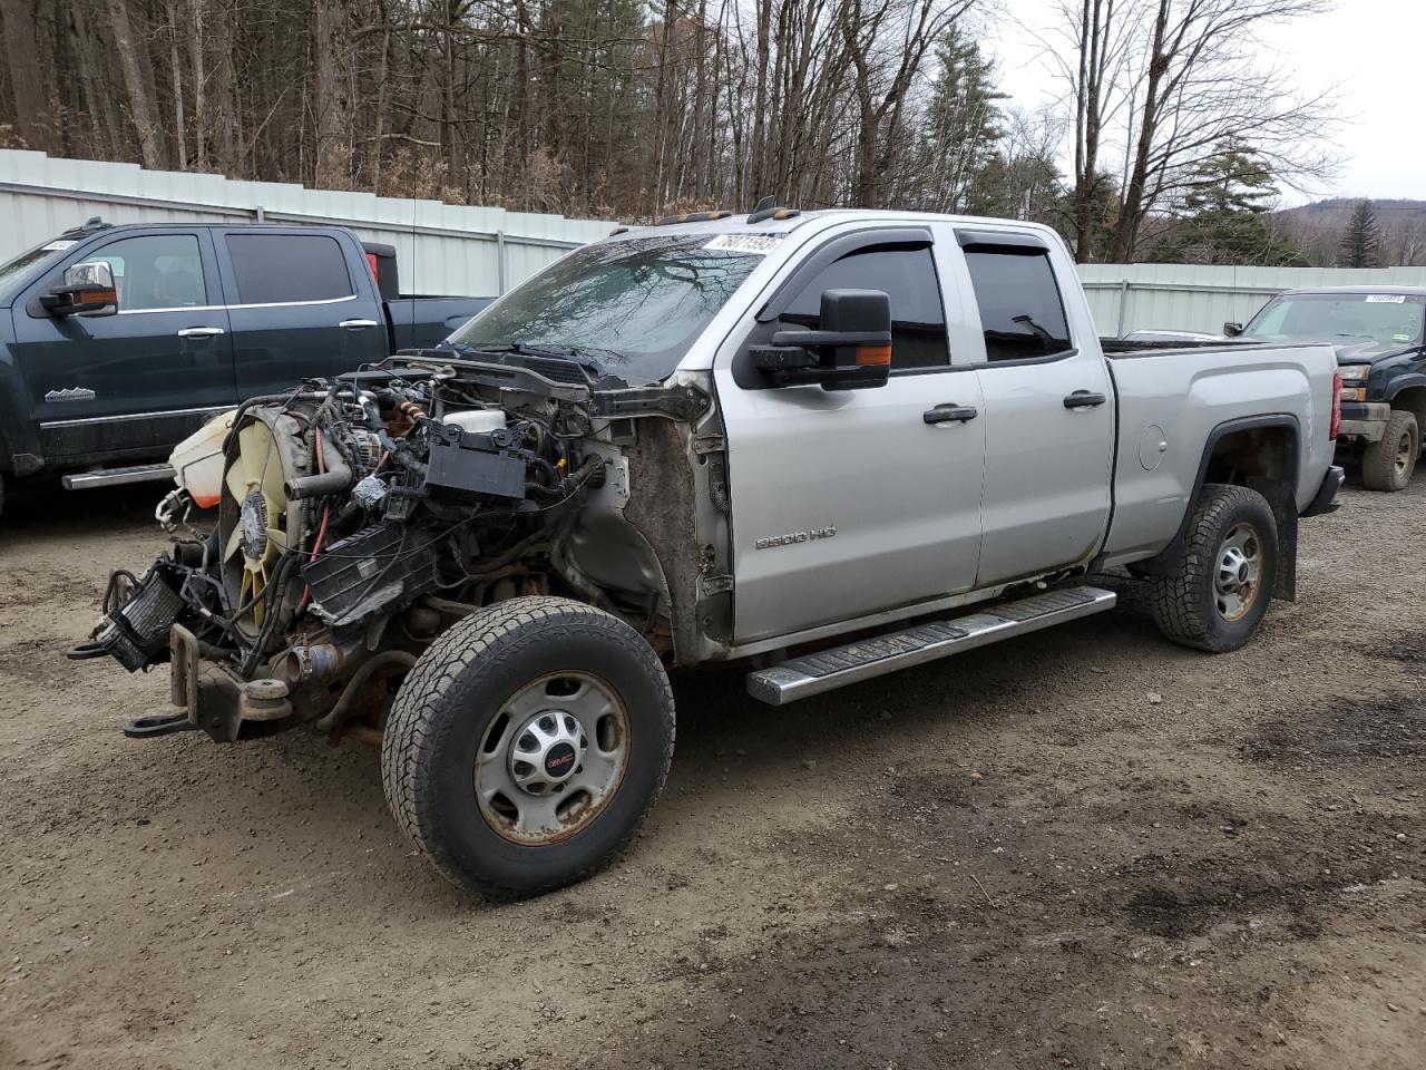
<path fill-rule="evenodd" d="M 478 750 L 511 696 L 562 672 L 597 676 L 623 703 L 627 759 L 588 825 L 516 843 L 476 800 Z M 582 602 L 516 598 L 461 621 L 416 661 L 386 722 L 382 783 L 396 823 L 449 880 L 491 899 L 532 896 L 583 880 L 627 846 L 663 790 L 673 736 L 667 673 L 633 628 Z"/>

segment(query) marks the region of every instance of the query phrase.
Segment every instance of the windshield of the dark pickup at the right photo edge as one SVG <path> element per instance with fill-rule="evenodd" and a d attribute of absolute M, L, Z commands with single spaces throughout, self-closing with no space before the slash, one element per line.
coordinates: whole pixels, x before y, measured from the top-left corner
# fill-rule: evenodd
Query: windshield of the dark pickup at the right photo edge
<path fill-rule="evenodd" d="M 1370 340 L 1419 345 L 1426 298 L 1407 294 L 1288 294 L 1272 301 L 1243 334 L 1253 338 Z"/>

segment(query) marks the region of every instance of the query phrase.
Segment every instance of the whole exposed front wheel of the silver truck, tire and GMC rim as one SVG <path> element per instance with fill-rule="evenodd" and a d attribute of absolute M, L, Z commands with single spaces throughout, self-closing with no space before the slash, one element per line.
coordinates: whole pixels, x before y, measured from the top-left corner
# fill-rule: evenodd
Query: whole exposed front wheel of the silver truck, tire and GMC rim
<path fill-rule="evenodd" d="M 590 876 L 649 813 L 673 692 L 623 621 L 563 598 L 482 609 L 421 655 L 392 705 L 382 782 L 446 877 L 489 897 Z"/>

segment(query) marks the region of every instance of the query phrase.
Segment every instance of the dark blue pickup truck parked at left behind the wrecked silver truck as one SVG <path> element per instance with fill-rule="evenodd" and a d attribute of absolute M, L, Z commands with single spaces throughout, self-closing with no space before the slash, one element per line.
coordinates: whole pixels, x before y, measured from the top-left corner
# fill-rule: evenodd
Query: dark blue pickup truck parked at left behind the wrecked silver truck
<path fill-rule="evenodd" d="M 90 220 L 0 265 L 0 504 L 41 472 L 167 478 L 211 414 L 435 345 L 489 302 L 402 297 L 395 250 L 344 227 Z"/>

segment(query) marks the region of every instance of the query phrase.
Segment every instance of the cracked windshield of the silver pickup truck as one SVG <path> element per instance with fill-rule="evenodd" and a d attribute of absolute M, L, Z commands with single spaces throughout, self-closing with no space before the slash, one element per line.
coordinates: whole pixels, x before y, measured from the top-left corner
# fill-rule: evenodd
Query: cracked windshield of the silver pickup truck
<path fill-rule="evenodd" d="M 586 245 L 451 335 L 473 348 L 585 351 L 630 385 L 657 382 L 757 267 L 761 255 L 676 234 Z"/>

